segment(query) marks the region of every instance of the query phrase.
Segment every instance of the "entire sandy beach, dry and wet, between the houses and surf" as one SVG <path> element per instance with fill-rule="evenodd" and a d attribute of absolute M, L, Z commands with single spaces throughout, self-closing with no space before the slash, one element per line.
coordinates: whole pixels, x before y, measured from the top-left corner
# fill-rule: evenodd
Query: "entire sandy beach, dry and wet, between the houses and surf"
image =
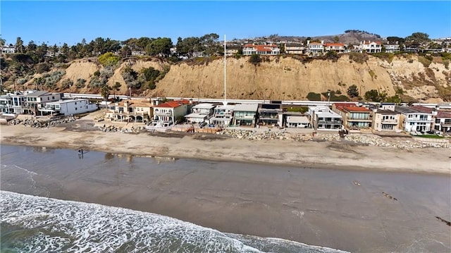
<path fill-rule="evenodd" d="M 448 226 L 435 218 L 451 217 L 449 148 L 102 132 L 89 117 L 44 129 L 1 125 L 0 134 L 1 144 L 19 146 L 2 149 L 2 163 L 11 164 L 2 168 L 1 190 L 351 252 L 451 248 Z"/>

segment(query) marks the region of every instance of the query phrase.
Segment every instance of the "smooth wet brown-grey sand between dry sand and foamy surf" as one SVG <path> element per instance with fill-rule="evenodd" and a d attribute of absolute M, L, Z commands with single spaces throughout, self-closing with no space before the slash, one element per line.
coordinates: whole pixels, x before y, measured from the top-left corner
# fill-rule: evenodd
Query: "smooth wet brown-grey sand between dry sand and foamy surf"
<path fill-rule="evenodd" d="M 26 157 L 26 159 L 23 159 Z M 1 146 L 1 190 L 350 252 L 450 252 L 449 175 Z M 395 199 L 390 199 L 386 193 Z"/>

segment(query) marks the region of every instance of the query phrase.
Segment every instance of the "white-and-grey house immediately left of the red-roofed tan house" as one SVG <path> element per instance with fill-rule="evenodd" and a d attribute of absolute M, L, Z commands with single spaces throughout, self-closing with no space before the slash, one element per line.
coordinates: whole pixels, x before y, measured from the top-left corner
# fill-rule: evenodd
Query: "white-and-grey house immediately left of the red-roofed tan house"
<path fill-rule="evenodd" d="M 342 116 L 330 110 L 328 106 L 309 106 L 307 116 L 314 130 L 342 129 Z"/>

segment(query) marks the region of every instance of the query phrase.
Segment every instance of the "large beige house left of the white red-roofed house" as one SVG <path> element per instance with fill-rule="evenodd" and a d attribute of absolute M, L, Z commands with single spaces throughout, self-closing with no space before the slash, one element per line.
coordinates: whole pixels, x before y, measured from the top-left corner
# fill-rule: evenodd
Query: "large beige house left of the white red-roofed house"
<path fill-rule="evenodd" d="M 147 123 L 153 116 L 153 104 L 149 99 L 125 100 L 107 107 L 106 118 L 111 121 Z"/>

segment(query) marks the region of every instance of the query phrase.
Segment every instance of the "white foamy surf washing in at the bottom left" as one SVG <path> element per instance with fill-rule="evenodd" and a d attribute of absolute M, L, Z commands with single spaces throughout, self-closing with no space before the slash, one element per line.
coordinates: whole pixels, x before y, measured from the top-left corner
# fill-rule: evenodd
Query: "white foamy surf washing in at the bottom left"
<path fill-rule="evenodd" d="M 342 252 L 101 204 L 0 192 L 1 252 Z"/>

